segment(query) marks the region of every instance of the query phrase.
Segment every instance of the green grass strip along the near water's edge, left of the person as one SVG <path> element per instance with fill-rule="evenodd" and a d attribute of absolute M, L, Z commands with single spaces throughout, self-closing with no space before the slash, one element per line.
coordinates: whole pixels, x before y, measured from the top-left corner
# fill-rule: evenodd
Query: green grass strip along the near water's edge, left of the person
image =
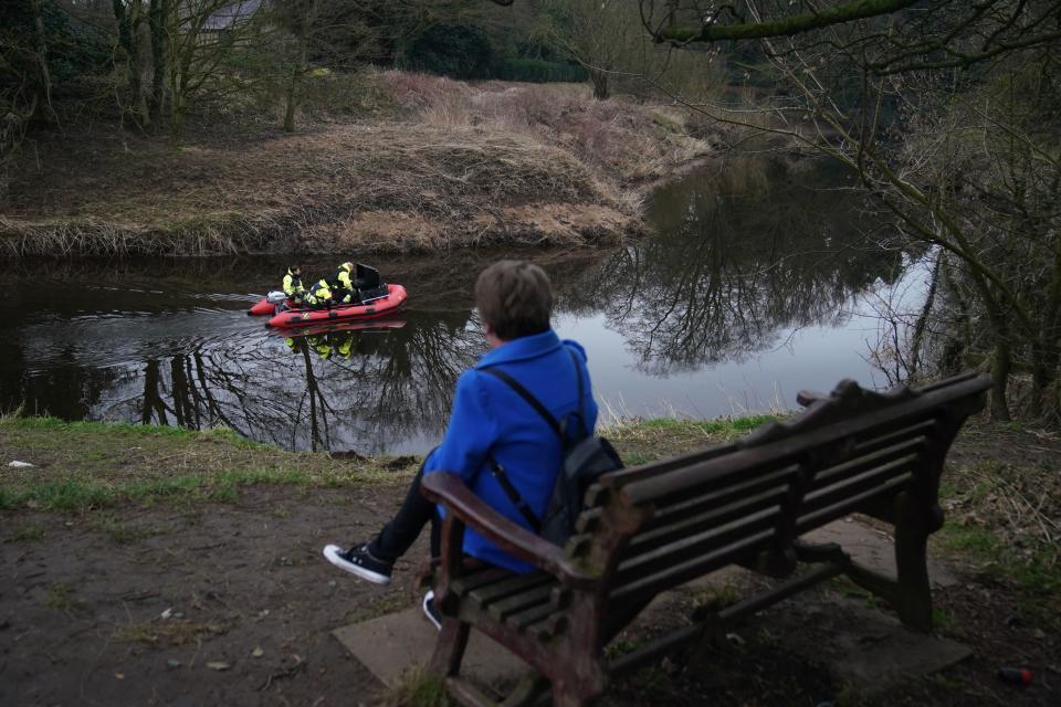
<path fill-rule="evenodd" d="M 235 503 L 242 488 L 259 484 L 302 489 L 403 484 L 418 463 L 392 469 L 386 460 L 286 452 L 224 428 L 200 432 L 13 415 L 0 416 L 0 456 L 34 464 L 0 476 L 0 511 L 55 513 Z"/>

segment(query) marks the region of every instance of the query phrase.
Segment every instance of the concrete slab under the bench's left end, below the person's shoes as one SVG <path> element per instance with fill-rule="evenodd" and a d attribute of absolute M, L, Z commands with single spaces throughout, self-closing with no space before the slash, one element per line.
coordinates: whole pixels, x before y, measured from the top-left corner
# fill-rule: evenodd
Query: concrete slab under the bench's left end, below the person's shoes
<path fill-rule="evenodd" d="M 385 685 L 393 685 L 413 665 L 431 657 L 439 632 L 419 608 L 363 621 L 332 634 Z M 477 631 L 472 631 L 461 674 L 484 687 L 511 683 L 528 671 L 526 663 Z"/>

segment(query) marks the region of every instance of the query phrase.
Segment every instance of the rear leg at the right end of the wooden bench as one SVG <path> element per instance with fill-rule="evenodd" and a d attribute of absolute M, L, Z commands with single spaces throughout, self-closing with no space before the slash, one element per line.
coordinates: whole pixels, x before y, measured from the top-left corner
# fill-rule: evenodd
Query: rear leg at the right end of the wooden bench
<path fill-rule="evenodd" d="M 928 580 L 929 518 L 908 494 L 896 499 L 896 605 L 899 618 L 911 629 L 932 631 L 932 584 Z"/>

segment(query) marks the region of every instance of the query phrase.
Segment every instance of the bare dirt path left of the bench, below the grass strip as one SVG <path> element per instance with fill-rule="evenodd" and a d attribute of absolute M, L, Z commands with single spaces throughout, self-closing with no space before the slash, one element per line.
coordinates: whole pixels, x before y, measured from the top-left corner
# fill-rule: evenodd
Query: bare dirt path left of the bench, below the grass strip
<path fill-rule="evenodd" d="M 136 510 L 117 528 L 7 516 L 4 540 L 29 524 L 45 535 L 0 544 L 0 705 L 370 701 L 371 676 L 329 631 L 416 595 L 347 578 L 319 552 L 375 529 L 398 493 L 264 486 L 234 506 Z"/>

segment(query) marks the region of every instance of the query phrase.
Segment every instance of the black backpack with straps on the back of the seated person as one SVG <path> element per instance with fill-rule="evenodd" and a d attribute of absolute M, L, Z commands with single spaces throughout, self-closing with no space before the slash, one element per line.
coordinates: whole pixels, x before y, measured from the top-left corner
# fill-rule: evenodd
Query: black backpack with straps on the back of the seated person
<path fill-rule="evenodd" d="M 497 479 L 497 483 L 501 484 L 508 499 L 512 500 L 521 515 L 530 524 L 534 531 L 549 542 L 561 547 L 575 532 L 575 521 L 578 519 L 578 514 L 582 510 L 586 489 L 588 489 L 601 474 L 622 468 L 622 460 L 619 458 L 619 454 L 616 453 L 611 443 L 603 437 L 590 434 L 586 429 L 586 409 L 582 402 L 585 394 L 582 370 L 578 365 L 578 358 L 575 352 L 571 351 L 571 349 L 567 349 L 567 352 L 571 357 L 571 363 L 575 366 L 575 377 L 578 379 L 578 429 L 574 431 L 574 435 L 567 424 L 572 415 L 566 415 L 563 422 L 557 421 L 546 407 L 512 376 L 496 368 L 481 369 L 482 372 L 490 373 L 507 383 L 527 404 L 542 415 L 549 424 L 549 428 L 560 437 L 560 444 L 564 445 L 564 463 L 560 473 L 556 477 L 556 486 L 553 487 L 553 495 L 549 497 L 549 505 L 543 518 L 538 518 L 534 511 L 530 510 L 530 507 L 519 495 L 519 492 L 512 485 L 508 474 L 501 464 L 491 458 L 489 465 L 491 474 Z"/>

